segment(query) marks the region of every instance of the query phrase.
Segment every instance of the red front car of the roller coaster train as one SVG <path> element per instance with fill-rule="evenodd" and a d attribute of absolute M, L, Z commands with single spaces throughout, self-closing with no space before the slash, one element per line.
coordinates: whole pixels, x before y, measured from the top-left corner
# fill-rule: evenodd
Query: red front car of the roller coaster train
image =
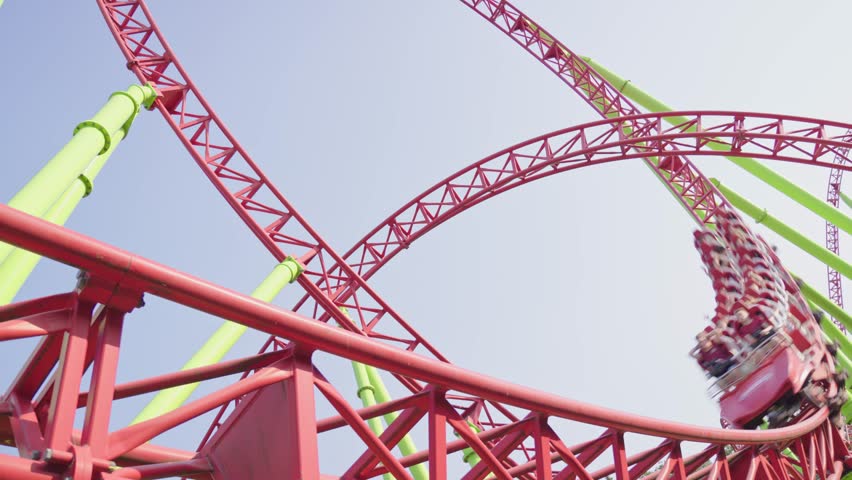
<path fill-rule="evenodd" d="M 770 427 L 777 427 L 790 423 L 810 405 L 826 405 L 831 392 L 824 388 L 827 382 L 816 380 L 825 372 L 815 375 L 822 370 L 818 358 L 822 345 L 807 340 L 798 331 L 779 330 L 720 377 L 711 394 L 721 395 L 722 425 L 752 429 L 766 416 Z"/>

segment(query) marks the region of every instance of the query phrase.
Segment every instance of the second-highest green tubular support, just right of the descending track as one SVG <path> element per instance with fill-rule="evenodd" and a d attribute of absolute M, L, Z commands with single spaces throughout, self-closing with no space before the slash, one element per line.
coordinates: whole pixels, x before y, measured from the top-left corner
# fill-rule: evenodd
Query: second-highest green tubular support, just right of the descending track
<path fill-rule="evenodd" d="M 713 182 L 714 185 L 716 185 L 719 191 L 722 192 L 722 195 L 724 195 L 725 198 L 727 198 L 733 206 L 753 218 L 757 223 L 762 223 L 763 225 L 766 225 L 767 228 L 777 233 L 778 235 L 781 235 L 790 243 L 809 253 L 817 260 L 837 270 L 844 277 L 852 278 L 852 264 L 849 264 L 836 254 L 834 254 L 832 251 L 805 237 L 798 231 L 791 228 L 789 225 L 781 222 L 774 216 L 767 213 L 765 209 L 756 206 L 755 204 L 743 198 L 741 195 L 731 190 L 730 188 L 722 185 L 719 180 L 712 178 L 710 179 L 710 181 Z"/>

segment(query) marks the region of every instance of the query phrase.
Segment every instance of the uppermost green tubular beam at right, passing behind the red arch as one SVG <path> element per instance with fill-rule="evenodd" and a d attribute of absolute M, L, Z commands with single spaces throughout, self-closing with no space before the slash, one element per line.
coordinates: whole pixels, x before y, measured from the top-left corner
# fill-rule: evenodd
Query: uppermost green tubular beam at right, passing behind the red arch
<path fill-rule="evenodd" d="M 665 103 L 661 102 L 660 100 L 657 100 L 656 98 L 652 97 L 648 93 L 642 91 L 641 89 L 630 83 L 630 80 L 625 80 L 624 78 L 616 75 L 615 73 L 613 73 L 603 65 L 595 62 L 591 58 L 582 58 L 586 61 L 586 63 L 589 64 L 589 66 L 591 66 L 595 69 L 595 71 L 600 73 L 601 76 L 603 76 L 609 83 L 618 88 L 621 93 L 623 93 L 627 98 L 638 103 L 648 111 L 659 113 L 671 112 L 673 110 Z M 687 121 L 685 117 L 680 116 L 667 117 L 665 120 L 672 125 L 683 124 Z M 689 128 L 686 131 L 694 130 L 694 128 Z M 707 146 L 713 150 L 717 150 L 720 152 L 729 151 L 729 146 L 723 143 L 710 142 L 707 144 Z M 737 166 L 739 166 L 740 168 L 742 168 L 743 170 L 751 173 L 755 177 L 759 178 L 763 182 L 775 188 L 779 192 L 787 195 L 792 200 L 801 204 L 808 210 L 824 218 L 826 221 L 837 225 L 838 228 L 845 231 L 846 233 L 852 234 L 852 218 L 844 215 L 843 212 L 835 208 L 833 205 L 820 200 L 802 187 L 796 185 L 790 180 L 787 180 L 786 178 L 779 175 L 766 165 L 758 162 L 757 160 L 742 157 L 726 158 Z M 841 193 L 841 195 L 843 194 Z"/>

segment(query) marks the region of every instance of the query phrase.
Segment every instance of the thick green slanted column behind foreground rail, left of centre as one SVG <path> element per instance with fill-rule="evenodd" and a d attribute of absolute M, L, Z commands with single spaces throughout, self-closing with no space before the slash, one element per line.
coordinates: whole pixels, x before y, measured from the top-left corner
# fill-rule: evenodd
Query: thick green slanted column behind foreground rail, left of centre
<path fill-rule="evenodd" d="M 287 257 L 286 260 L 275 266 L 272 273 L 252 292 L 251 296 L 264 302 L 271 302 L 285 285 L 296 280 L 302 270 L 302 266 L 296 259 Z M 245 325 L 225 321 L 181 370 L 203 367 L 218 362 L 234 346 L 246 329 Z M 176 409 L 192 395 L 197 387 L 198 383 L 191 383 L 160 391 L 133 419 L 131 425 Z"/>

